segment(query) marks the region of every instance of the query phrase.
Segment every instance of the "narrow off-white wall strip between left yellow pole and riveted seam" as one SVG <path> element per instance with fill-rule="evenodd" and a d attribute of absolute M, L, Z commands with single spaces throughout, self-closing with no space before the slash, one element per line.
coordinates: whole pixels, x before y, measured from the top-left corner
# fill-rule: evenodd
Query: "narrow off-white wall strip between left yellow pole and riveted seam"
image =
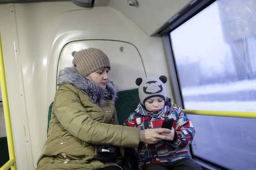
<path fill-rule="evenodd" d="M 15 51 L 13 40 L 14 35 L 12 32 L 12 25 L 15 25 L 15 20 L 13 21 L 11 19 L 11 14 L 13 15 L 15 11 L 10 10 L 10 8 L 12 8 L 12 4 L 0 5 L 0 31 L 3 46 L 3 60 L 6 73 L 6 84 L 12 122 L 16 165 L 18 167 L 17 170 L 32 170 L 34 167 L 32 162 L 28 162 L 26 150 L 26 146 L 30 145 L 30 141 L 26 142 L 26 133 L 21 109 L 23 107 L 21 100 L 24 101 L 24 95 L 20 93 L 21 91 L 19 86 L 22 83 L 20 82 L 22 77 L 20 77 L 20 70 L 17 67 L 17 61 L 19 62 L 20 59 L 15 53 L 17 52 L 18 54 L 19 51 Z M 23 96 L 21 96 L 21 94 Z"/>

